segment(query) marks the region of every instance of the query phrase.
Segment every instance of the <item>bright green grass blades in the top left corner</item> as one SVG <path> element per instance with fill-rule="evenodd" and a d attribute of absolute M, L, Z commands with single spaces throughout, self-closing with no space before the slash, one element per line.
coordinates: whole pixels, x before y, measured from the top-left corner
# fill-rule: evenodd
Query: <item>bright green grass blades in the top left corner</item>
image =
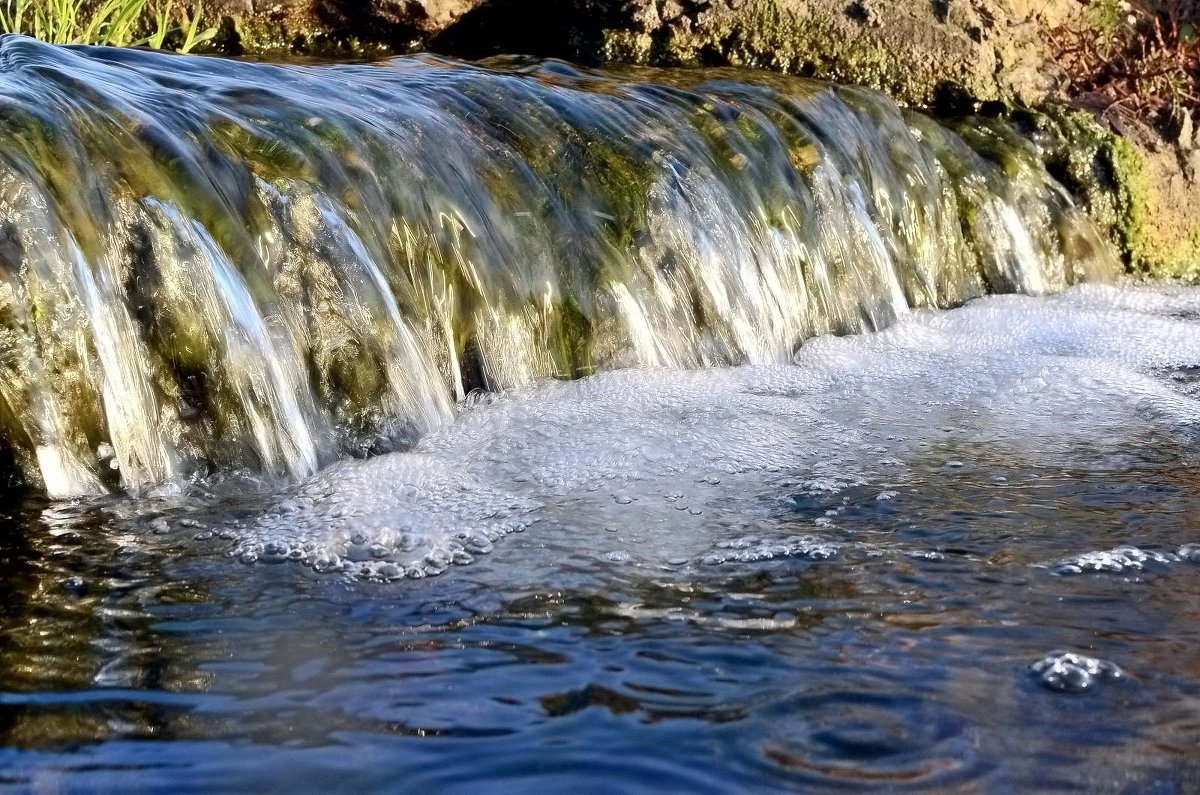
<path fill-rule="evenodd" d="M 52 44 L 108 44 L 191 52 L 216 28 L 202 28 L 204 10 L 175 0 L 0 0 L 0 32 Z"/>

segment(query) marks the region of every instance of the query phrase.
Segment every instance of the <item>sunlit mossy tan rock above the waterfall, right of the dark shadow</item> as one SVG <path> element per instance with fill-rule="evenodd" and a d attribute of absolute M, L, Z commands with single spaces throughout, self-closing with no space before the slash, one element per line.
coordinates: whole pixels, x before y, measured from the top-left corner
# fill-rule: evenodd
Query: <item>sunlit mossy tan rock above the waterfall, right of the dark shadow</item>
<path fill-rule="evenodd" d="M 721 64 L 858 83 L 902 102 L 1032 103 L 1055 86 L 1037 26 L 1006 0 L 713 0 L 623 4 L 612 60 Z"/>

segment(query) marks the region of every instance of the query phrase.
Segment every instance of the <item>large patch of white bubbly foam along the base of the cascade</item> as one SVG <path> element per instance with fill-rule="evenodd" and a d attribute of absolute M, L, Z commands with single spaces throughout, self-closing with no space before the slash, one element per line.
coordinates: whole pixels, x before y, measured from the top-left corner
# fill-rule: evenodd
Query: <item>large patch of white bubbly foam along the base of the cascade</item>
<path fill-rule="evenodd" d="M 756 531 L 778 495 L 1187 450 L 1200 400 L 1170 375 L 1196 364 L 1200 291 L 1086 287 L 913 312 L 812 340 L 788 366 L 551 382 L 466 406 L 413 453 L 319 473 L 235 528 L 239 554 L 422 576 L 539 522 L 581 545 L 619 528 L 623 549 L 596 554 L 610 561 L 737 561 L 721 544 L 739 538 L 756 560 L 828 557 L 836 516 L 821 538 Z"/>

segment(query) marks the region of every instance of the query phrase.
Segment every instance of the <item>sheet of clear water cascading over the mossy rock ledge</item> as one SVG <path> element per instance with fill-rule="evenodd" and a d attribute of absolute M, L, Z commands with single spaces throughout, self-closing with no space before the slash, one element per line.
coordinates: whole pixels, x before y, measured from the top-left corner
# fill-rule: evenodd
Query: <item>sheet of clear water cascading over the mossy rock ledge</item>
<path fill-rule="evenodd" d="M 1117 273 L 1032 150 L 872 92 L 0 40 L 0 430 L 52 496 L 385 452 L 455 399 L 787 361 Z M 997 143 L 998 145 L 998 143 Z"/>

